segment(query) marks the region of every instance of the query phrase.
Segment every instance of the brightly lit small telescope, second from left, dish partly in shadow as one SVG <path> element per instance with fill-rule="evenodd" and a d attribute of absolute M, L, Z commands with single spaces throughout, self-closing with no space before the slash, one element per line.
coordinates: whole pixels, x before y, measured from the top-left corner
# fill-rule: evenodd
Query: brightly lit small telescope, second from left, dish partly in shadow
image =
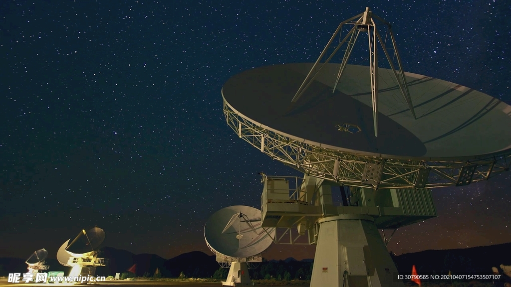
<path fill-rule="evenodd" d="M 57 260 L 63 266 L 72 267 L 69 277 L 94 276 L 96 267 L 108 264 L 108 259 L 98 257 L 98 247 L 104 240 L 103 229 L 97 226 L 87 231 L 82 229 L 73 241 L 70 238 L 60 246 Z"/>

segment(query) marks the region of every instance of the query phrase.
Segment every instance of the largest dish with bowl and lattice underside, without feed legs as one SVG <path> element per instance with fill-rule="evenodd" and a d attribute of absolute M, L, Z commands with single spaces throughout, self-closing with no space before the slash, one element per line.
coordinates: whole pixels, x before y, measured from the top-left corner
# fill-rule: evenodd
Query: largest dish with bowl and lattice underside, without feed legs
<path fill-rule="evenodd" d="M 222 87 L 228 125 L 252 146 L 306 174 L 375 188 L 431 188 L 486 180 L 511 164 L 511 106 L 458 84 L 404 73 L 416 119 L 393 71 L 379 68 L 374 134 L 369 67 L 313 63 L 242 71 Z M 368 171 L 375 171 L 371 174 Z"/>

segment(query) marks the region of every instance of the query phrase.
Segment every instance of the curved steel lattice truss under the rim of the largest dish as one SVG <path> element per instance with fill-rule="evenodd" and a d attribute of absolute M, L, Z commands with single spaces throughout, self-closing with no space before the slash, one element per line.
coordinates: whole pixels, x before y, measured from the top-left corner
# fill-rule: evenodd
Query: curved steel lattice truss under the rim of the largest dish
<path fill-rule="evenodd" d="M 511 151 L 459 159 L 397 159 L 310 145 L 254 124 L 223 99 L 229 127 L 271 158 L 307 175 L 370 188 L 434 188 L 487 180 L 511 166 Z"/>

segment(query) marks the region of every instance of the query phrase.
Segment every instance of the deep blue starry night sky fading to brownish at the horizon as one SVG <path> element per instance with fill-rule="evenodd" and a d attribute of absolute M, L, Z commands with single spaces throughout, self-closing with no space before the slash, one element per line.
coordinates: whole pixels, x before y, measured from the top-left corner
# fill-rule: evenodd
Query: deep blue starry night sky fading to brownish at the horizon
<path fill-rule="evenodd" d="M 365 6 L 393 23 L 406 71 L 511 103 L 508 1 L 359 3 L 2 0 L 0 257 L 55 257 L 94 225 L 104 245 L 133 253 L 212 254 L 203 225 L 213 212 L 260 208 L 258 172 L 300 175 L 227 126 L 222 85 L 249 68 L 315 61 Z M 439 217 L 399 229 L 389 250 L 511 242 L 510 189 L 511 172 L 434 189 Z M 313 255 L 281 245 L 265 257 Z"/>

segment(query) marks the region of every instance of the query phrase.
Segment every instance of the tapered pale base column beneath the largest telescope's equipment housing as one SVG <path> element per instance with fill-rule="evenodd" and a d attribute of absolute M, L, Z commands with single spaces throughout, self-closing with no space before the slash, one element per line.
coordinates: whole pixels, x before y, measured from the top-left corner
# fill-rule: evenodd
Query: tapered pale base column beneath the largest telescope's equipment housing
<path fill-rule="evenodd" d="M 372 217 L 342 214 L 319 220 L 311 287 L 404 286 Z"/>

